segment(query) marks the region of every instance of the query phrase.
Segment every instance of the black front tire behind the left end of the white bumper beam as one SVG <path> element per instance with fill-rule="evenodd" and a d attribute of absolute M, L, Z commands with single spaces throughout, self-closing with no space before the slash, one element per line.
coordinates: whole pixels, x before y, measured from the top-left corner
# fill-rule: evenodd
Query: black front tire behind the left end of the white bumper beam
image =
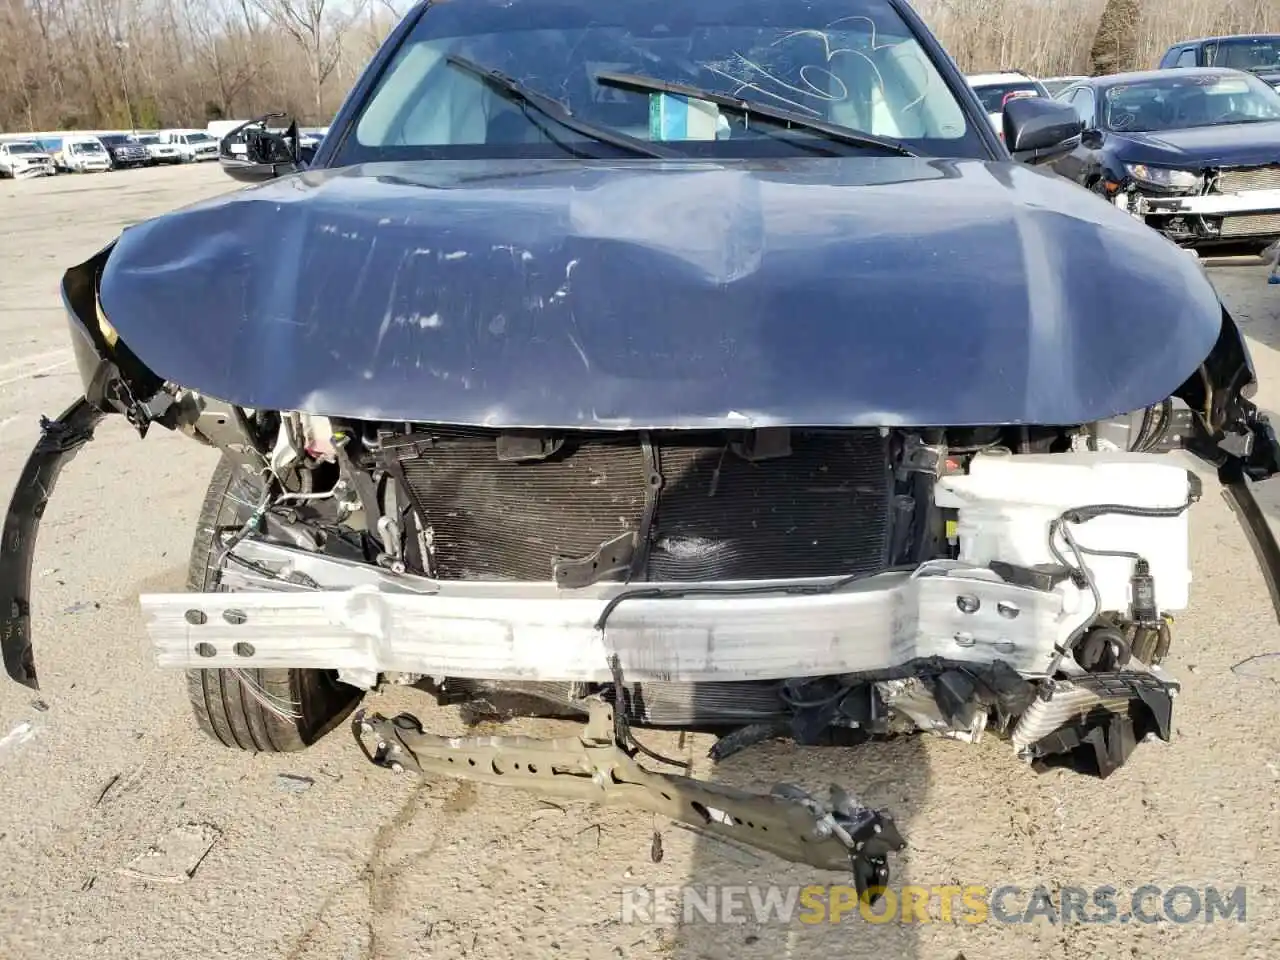
<path fill-rule="evenodd" d="M 256 499 L 252 481 L 242 479 L 224 457 L 200 507 L 188 590 L 220 589 L 220 570 L 214 566 L 216 532 L 241 527 L 251 512 L 244 502 Z M 188 669 L 187 694 L 196 724 L 205 733 L 223 746 L 255 753 L 310 746 L 342 722 L 361 696 L 332 671 L 283 668 Z"/>

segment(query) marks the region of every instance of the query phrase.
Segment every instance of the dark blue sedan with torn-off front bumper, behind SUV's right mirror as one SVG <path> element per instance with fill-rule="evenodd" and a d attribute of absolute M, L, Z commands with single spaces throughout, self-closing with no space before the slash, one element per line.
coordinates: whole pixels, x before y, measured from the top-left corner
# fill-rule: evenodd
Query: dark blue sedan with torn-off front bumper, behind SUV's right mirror
<path fill-rule="evenodd" d="M 1280 236 L 1280 93 L 1208 67 L 1094 77 L 1062 91 L 1080 146 L 1052 166 L 1184 246 Z"/>

